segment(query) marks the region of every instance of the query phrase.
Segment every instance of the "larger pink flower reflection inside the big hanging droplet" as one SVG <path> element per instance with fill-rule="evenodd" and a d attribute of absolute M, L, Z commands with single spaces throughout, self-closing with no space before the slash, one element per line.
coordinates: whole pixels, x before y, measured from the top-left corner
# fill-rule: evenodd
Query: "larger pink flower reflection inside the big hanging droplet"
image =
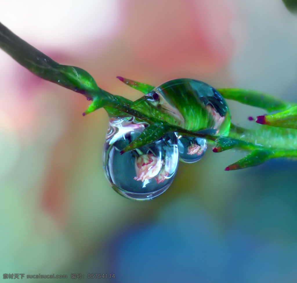
<path fill-rule="evenodd" d="M 154 178 L 161 169 L 162 160 L 152 153 L 140 155 L 135 159 L 136 177 L 134 180 L 142 181 Z"/>

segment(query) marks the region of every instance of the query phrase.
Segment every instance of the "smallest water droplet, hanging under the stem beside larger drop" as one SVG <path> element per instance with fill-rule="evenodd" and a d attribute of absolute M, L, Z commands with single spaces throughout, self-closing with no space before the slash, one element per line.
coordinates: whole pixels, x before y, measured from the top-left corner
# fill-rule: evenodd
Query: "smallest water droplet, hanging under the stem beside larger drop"
<path fill-rule="evenodd" d="M 206 152 L 207 144 L 205 139 L 179 136 L 178 137 L 179 160 L 185 163 L 199 161 Z"/>

